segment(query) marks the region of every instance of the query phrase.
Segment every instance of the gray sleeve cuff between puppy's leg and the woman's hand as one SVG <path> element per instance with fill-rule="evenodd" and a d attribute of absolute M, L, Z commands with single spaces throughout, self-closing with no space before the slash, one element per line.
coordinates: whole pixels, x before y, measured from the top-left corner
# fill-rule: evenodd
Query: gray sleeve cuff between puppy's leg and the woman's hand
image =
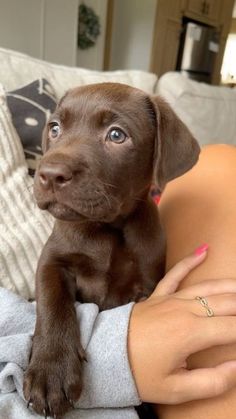
<path fill-rule="evenodd" d="M 84 364 L 84 391 L 78 406 L 140 404 L 127 355 L 127 329 L 132 307 L 131 303 L 97 315 L 86 346 L 88 362 Z"/>

